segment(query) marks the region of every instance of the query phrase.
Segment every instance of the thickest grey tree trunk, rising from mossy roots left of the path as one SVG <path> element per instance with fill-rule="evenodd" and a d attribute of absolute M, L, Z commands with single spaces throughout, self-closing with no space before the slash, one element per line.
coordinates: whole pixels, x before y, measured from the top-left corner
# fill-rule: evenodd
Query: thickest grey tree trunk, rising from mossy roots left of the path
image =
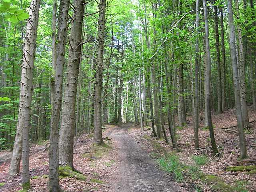
<path fill-rule="evenodd" d="M 73 166 L 74 130 L 76 126 L 75 108 L 82 50 L 82 28 L 85 0 L 74 0 L 74 15 L 71 22 L 70 48 L 68 56 L 66 89 L 64 92 L 63 114 L 60 127 L 59 164 Z"/>

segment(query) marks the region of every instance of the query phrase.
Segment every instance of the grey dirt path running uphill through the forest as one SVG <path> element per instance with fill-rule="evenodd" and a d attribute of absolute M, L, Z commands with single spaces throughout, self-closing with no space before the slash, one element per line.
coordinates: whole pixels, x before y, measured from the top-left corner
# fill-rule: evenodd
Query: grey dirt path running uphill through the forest
<path fill-rule="evenodd" d="M 109 134 L 118 146 L 118 182 L 113 184 L 114 192 L 184 191 L 179 186 L 174 186 L 172 178 L 156 167 L 156 162 L 146 152 L 146 146 L 137 143 L 128 135 L 131 125 L 123 124 Z"/>

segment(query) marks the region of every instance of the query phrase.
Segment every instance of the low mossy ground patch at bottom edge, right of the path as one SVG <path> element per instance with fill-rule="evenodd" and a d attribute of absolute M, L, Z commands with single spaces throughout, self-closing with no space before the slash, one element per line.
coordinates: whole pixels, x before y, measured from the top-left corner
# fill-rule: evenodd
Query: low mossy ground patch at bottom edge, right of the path
<path fill-rule="evenodd" d="M 213 190 L 221 192 L 234 192 L 234 187 L 226 184 L 222 178 L 215 175 L 201 174 L 200 179 L 207 184 L 212 186 Z"/>

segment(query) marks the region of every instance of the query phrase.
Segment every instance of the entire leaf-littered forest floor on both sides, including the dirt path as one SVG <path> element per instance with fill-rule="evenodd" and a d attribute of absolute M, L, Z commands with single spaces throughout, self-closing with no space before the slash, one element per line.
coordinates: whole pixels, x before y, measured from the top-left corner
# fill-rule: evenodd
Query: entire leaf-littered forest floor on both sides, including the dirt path
<path fill-rule="evenodd" d="M 248 155 L 256 160 L 256 111 L 250 110 L 250 128 L 246 129 Z M 174 150 L 164 140 L 152 137 L 152 131 L 142 132 L 139 126 L 132 123 L 117 125 L 108 124 L 103 132 L 102 147 L 95 146 L 92 134 L 82 134 L 75 139 L 74 167 L 80 170 L 85 180 L 61 177 L 60 185 L 65 192 L 256 192 L 256 174 L 247 172 L 229 172 L 227 166 L 235 165 L 239 156 L 238 136 L 235 111 L 225 111 L 221 115 L 213 115 L 216 144 L 222 156 L 212 157 L 209 144 L 209 130 L 203 128 L 201 121 L 199 130 L 200 150 L 194 150 L 194 134 L 192 116 L 187 116 L 188 125 L 177 130 L 179 151 Z M 227 127 L 227 128 L 226 128 Z M 223 129 L 220 129 L 223 128 Z M 166 127 L 168 134 L 168 128 Z M 170 136 L 168 135 L 169 140 Z M 34 192 L 45 192 L 48 182 L 48 141 L 32 144 L 30 147 L 30 176 Z M 161 146 L 159 151 L 159 145 Z M 178 157 L 184 169 L 181 170 L 183 179 L 176 181 L 173 172 L 165 172 L 160 166 L 163 155 L 169 152 Z M 204 164 L 195 166 L 194 157 L 206 157 Z M 0 151 L 0 191 L 17 192 L 21 189 L 22 176 L 19 174 L 8 179 L 10 152 Z M 254 162 L 255 165 L 255 162 Z M 204 179 L 198 179 L 197 174 L 186 170 L 196 167 L 196 173 L 203 173 Z M 22 168 L 22 165 L 21 165 Z M 162 169 L 162 170 L 161 170 Z M 208 182 L 206 176 L 214 176 Z M 216 179 L 218 177 L 218 179 Z M 232 190 L 216 188 L 216 183 L 232 186 Z M 214 186 L 215 185 L 215 186 Z M 214 188 L 215 187 L 215 188 Z M 200 190 L 199 190 L 200 189 Z"/>

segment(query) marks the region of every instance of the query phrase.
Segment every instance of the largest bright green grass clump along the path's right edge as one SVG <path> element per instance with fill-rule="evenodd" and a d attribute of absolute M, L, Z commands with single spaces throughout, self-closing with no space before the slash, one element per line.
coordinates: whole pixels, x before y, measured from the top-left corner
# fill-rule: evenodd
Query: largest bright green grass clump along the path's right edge
<path fill-rule="evenodd" d="M 160 158 L 158 163 L 163 170 L 174 173 L 174 178 L 177 182 L 183 180 L 182 171 L 184 170 L 184 166 L 180 163 L 178 156 L 173 154 L 168 158 Z"/>

